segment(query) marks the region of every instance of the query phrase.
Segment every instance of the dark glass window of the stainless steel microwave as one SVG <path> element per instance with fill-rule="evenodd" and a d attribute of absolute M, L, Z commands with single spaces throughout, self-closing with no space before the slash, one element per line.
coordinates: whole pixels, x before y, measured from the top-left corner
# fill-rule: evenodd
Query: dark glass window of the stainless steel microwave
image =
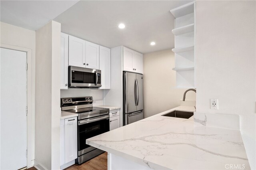
<path fill-rule="evenodd" d="M 82 71 L 72 70 L 72 83 L 92 83 L 95 84 L 96 81 L 95 73 L 88 73 Z"/>

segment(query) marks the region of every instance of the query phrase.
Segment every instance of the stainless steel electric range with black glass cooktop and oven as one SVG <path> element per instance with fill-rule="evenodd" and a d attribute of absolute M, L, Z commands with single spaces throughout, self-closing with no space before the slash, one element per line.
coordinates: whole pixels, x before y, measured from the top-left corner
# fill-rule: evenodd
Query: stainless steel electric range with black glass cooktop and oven
<path fill-rule="evenodd" d="M 92 97 L 62 98 L 62 111 L 77 113 L 78 158 L 82 164 L 104 151 L 86 144 L 86 139 L 109 131 L 109 109 L 93 107 Z"/>

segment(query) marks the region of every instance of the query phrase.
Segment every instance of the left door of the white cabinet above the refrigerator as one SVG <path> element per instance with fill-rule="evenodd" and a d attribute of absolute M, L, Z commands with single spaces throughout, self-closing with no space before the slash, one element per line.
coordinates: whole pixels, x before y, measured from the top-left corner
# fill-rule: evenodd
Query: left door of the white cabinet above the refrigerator
<path fill-rule="evenodd" d="M 123 70 L 124 71 L 134 71 L 132 66 L 132 58 L 134 51 L 132 49 L 123 47 Z"/>

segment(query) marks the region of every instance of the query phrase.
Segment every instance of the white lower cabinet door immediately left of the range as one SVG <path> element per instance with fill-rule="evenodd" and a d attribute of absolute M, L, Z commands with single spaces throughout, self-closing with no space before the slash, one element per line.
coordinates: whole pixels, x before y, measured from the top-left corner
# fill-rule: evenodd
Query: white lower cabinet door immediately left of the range
<path fill-rule="evenodd" d="M 65 163 L 77 158 L 77 117 L 65 119 Z"/>

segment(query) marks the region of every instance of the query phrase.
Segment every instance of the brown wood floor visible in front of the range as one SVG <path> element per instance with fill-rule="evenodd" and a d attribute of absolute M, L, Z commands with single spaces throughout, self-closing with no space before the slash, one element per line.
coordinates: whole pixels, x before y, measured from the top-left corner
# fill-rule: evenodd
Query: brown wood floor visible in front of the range
<path fill-rule="evenodd" d="M 108 169 L 108 152 L 104 152 L 91 160 L 81 164 L 72 165 L 65 170 L 107 170 Z M 28 168 L 28 170 L 36 170 L 35 167 Z"/>

